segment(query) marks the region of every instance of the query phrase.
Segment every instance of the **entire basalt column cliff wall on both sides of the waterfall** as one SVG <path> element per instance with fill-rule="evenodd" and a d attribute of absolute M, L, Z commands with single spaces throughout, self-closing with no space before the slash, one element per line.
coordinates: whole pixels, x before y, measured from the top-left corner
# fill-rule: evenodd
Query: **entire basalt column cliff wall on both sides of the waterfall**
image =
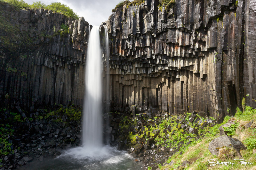
<path fill-rule="evenodd" d="M 234 0 L 183 0 L 161 11 L 157 0 L 145 0 L 117 9 L 107 21 L 110 89 L 104 90 L 110 93 L 111 110 L 152 106 L 223 117 L 237 106 L 242 109 L 243 97 L 256 107 L 254 1 L 239 0 L 236 6 Z M 84 18 L 72 21 L 44 9 L 1 6 L 2 16 L 19 34 L 33 39 L 32 51 L 13 49 L 26 58 L 0 49 L 1 104 L 27 110 L 69 101 L 82 105 L 90 25 Z M 54 35 L 53 26 L 58 31 L 63 23 L 70 33 Z M 9 67 L 17 72 L 7 71 Z M 103 101 L 107 103 L 106 96 Z"/>

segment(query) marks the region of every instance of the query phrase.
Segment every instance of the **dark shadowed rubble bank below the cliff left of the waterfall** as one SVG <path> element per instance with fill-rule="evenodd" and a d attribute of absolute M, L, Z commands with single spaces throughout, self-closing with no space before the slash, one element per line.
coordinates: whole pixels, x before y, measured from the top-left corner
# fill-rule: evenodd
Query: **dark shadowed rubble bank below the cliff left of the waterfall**
<path fill-rule="evenodd" d="M 52 110 L 37 109 L 27 117 L 1 109 L 1 170 L 54 158 L 63 149 L 81 145 L 81 107 L 60 105 Z"/>

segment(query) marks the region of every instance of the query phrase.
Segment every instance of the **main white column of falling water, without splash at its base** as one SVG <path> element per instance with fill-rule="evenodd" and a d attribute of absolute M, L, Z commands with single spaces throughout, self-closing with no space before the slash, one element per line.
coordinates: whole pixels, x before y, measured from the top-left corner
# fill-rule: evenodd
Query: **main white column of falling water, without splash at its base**
<path fill-rule="evenodd" d="M 102 61 L 99 26 L 90 32 L 85 70 L 83 145 L 102 147 Z"/>

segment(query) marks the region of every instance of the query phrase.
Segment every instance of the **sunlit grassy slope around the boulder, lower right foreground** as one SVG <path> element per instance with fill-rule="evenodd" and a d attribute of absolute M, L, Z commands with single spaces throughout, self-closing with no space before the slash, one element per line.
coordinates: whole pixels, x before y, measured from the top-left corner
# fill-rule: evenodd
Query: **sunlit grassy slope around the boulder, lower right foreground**
<path fill-rule="evenodd" d="M 218 133 L 218 128 L 222 124 L 216 124 L 210 130 L 210 133 L 206 135 L 202 140 L 198 141 L 196 145 L 190 145 L 186 151 L 180 155 L 178 152 L 172 157 L 170 157 L 167 163 L 173 162 L 172 165 L 159 165 L 159 169 L 161 170 L 172 170 L 172 169 L 185 169 L 185 170 L 203 170 L 203 169 L 225 169 L 225 170 L 242 170 L 242 169 L 256 169 L 256 110 L 246 106 L 244 112 L 237 109 L 235 117 L 225 117 L 224 122 L 225 124 L 228 120 L 235 120 L 235 124 L 232 125 L 230 128 L 225 129 L 228 132 L 228 135 L 232 138 L 236 138 L 240 140 L 246 147 L 246 150 L 241 150 L 241 154 L 246 160 L 246 162 L 250 162 L 252 164 L 248 165 L 240 163 L 240 160 L 236 156 L 236 152 L 232 148 L 221 148 L 219 156 L 212 155 L 209 150 L 208 146 L 209 143 L 214 139 L 220 136 Z M 252 120 L 253 123 L 251 126 L 247 126 L 249 122 Z M 213 165 L 212 163 L 208 163 L 208 160 L 215 159 L 215 162 L 219 160 L 219 162 L 234 162 L 233 165 Z M 188 161 L 189 163 L 186 166 L 182 166 L 183 161 Z M 212 162 L 212 161 L 209 161 Z M 148 167 L 151 169 L 151 167 Z"/>

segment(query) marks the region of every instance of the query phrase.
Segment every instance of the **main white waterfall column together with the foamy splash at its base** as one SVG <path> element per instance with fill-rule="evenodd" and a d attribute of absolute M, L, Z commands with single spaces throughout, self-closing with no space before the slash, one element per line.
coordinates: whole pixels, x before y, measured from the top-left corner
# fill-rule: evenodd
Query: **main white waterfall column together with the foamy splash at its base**
<path fill-rule="evenodd" d="M 83 147 L 72 148 L 60 156 L 76 159 L 81 164 L 112 156 L 109 148 L 103 146 L 102 140 L 102 51 L 99 26 L 92 27 L 86 56 Z"/>

